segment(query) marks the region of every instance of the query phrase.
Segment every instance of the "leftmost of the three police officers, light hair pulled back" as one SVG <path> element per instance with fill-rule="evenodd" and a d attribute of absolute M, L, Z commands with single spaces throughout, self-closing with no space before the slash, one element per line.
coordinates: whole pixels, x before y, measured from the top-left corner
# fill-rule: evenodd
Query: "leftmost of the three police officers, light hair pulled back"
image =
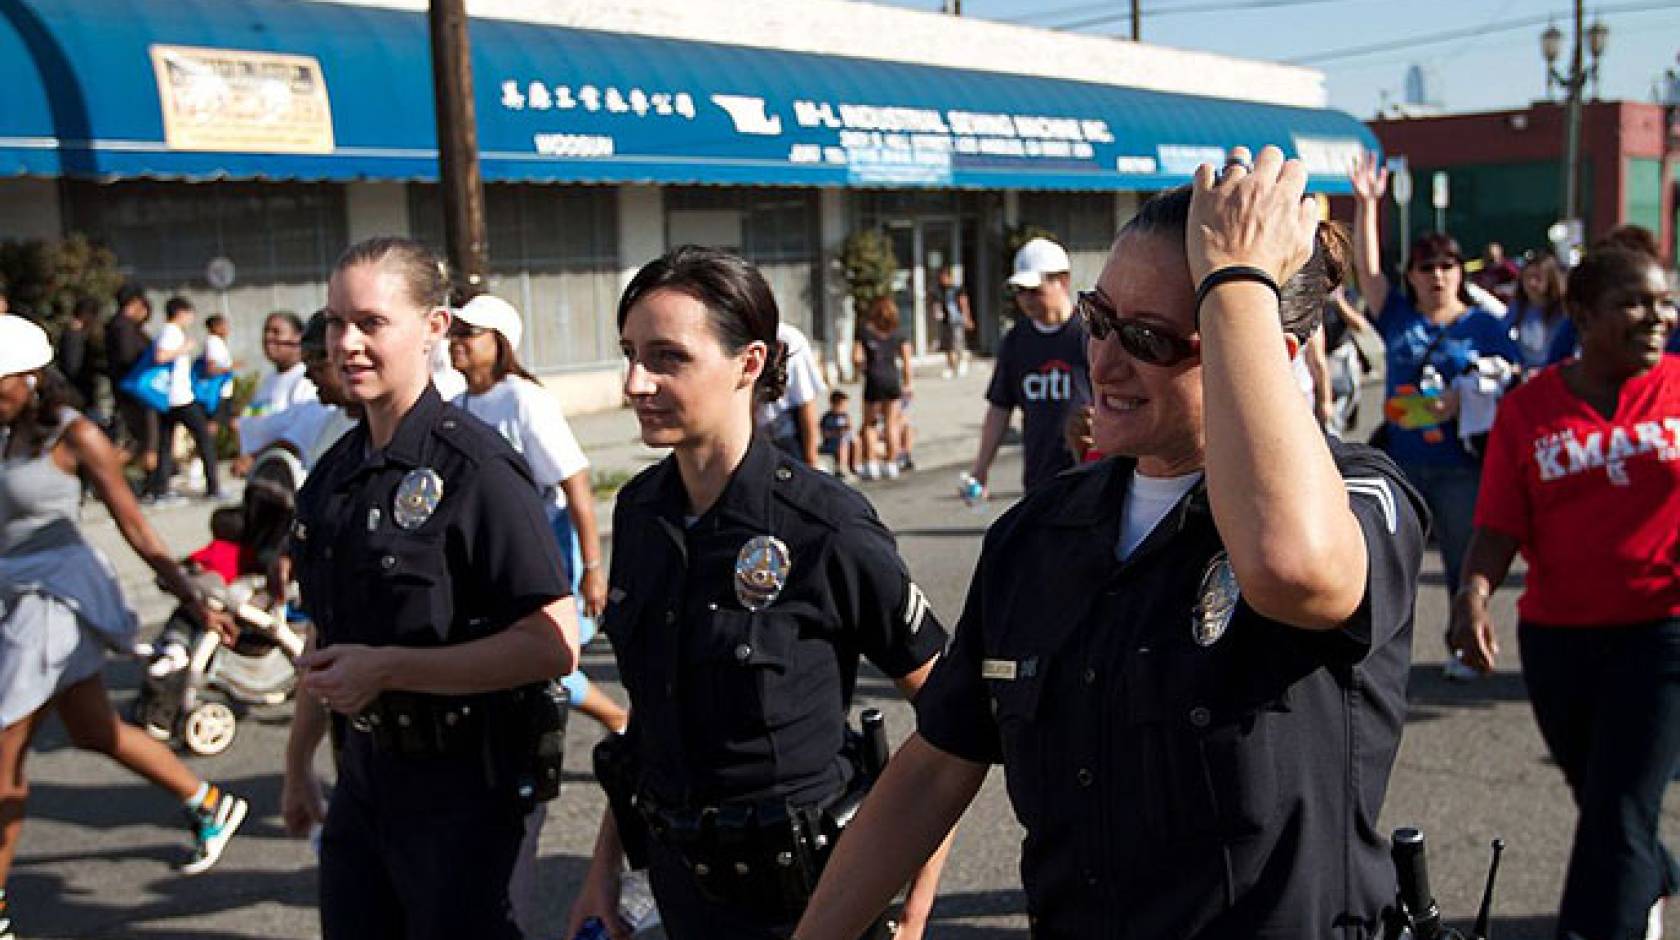
<path fill-rule="evenodd" d="M 319 648 L 299 660 L 286 782 L 291 822 L 297 794 L 319 799 L 329 710 L 326 940 L 521 937 L 509 881 L 559 784 L 548 680 L 576 665 L 576 613 L 524 462 L 432 388 L 445 289 L 402 238 L 353 245 L 328 285 L 329 359 L 365 420 L 297 497 L 291 557 Z"/>

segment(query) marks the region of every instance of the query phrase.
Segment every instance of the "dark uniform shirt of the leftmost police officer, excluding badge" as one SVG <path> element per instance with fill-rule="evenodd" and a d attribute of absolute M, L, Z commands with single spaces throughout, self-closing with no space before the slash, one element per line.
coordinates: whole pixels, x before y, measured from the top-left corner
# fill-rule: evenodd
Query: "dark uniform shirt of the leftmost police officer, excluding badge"
<path fill-rule="evenodd" d="M 444 499 L 415 529 L 393 502 L 412 470 Z M 430 384 L 390 443 L 346 433 L 297 494 L 292 559 L 319 643 L 444 646 L 479 640 L 571 594 L 524 458 Z"/>

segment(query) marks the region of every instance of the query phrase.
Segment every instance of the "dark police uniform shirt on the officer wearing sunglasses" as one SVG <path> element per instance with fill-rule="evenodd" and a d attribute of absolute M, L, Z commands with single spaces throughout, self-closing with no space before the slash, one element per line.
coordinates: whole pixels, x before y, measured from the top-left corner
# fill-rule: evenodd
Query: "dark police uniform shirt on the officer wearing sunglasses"
<path fill-rule="evenodd" d="M 988 532 L 916 713 L 934 747 L 1005 765 L 1035 937 L 1352 938 L 1393 901 L 1374 826 L 1426 509 L 1381 453 L 1331 446 L 1369 552 L 1339 631 L 1238 604 L 1198 645 L 1223 551 L 1206 488 L 1121 562 L 1126 460 L 1063 473 Z"/>

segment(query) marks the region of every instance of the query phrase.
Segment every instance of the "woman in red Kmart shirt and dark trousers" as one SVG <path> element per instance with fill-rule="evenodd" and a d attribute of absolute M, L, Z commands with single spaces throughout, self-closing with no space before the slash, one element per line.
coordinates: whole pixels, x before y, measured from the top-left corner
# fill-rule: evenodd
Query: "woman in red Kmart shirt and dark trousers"
<path fill-rule="evenodd" d="M 1576 807 L 1557 935 L 1645 937 L 1680 890 L 1658 841 L 1680 759 L 1680 356 L 1673 294 L 1645 253 L 1569 274 L 1581 356 L 1505 396 L 1448 645 L 1490 671 L 1488 596 L 1520 551 L 1517 643 L 1534 718 Z"/>

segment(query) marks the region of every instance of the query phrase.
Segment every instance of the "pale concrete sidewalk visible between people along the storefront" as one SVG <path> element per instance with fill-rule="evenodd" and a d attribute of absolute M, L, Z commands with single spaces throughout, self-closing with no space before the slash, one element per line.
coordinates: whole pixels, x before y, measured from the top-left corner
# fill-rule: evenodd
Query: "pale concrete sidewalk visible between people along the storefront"
<path fill-rule="evenodd" d="M 974 460 L 974 448 L 979 441 L 979 425 L 984 416 L 986 383 L 991 379 L 991 361 L 979 359 L 969 366 L 966 376 L 942 379 L 941 366 L 921 366 L 916 369 L 914 400 L 909 410 L 911 423 L 916 428 L 916 467 L 917 473 L 949 473 L 951 488 L 956 490 L 958 468 L 968 470 Z M 850 393 L 853 421 L 860 418 L 864 408 L 862 386 L 857 383 L 842 384 Z M 822 398 L 823 408 L 828 405 L 827 393 Z M 628 408 L 578 415 L 570 420 L 583 453 L 590 458 L 590 472 L 596 480 L 623 483 L 642 468 L 657 463 L 665 457 L 665 450 L 645 446 L 640 440 L 635 413 Z M 1010 441 L 1018 438 L 1010 436 Z M 1018 446 L 1006 443 L 1005 448 Z M 1006 453 L 1006 450 L 1005 450 Z M 223 473 L 223 487 L 228 500 L 237 500 L 244 492 L 244 480 Z M 1005 483 L 1013 490 L 1011 482 Z M 858 483 L 865 492 L 870 487 L 892 485 L 890 482 Z M 170 552 L 176 557 L 197 551 L 210 540 L 210 512 L 218 504 L 188 500 L 165 507 L 146 507 L 144 514 L 151 525 L 163 537 Z M 601 522 L 601 535 L 612 535 L 613 500 L 596 499 L 596 517 Z M 153 572 L 134 554 L 116 524 L 97 500 L 82 504 L 82 532 L 99 547 L 116 567 L 123 594 L 134 604 L 146 626 L 161 623 L 173 608 L 173 599 L 153 586 Z"/>

